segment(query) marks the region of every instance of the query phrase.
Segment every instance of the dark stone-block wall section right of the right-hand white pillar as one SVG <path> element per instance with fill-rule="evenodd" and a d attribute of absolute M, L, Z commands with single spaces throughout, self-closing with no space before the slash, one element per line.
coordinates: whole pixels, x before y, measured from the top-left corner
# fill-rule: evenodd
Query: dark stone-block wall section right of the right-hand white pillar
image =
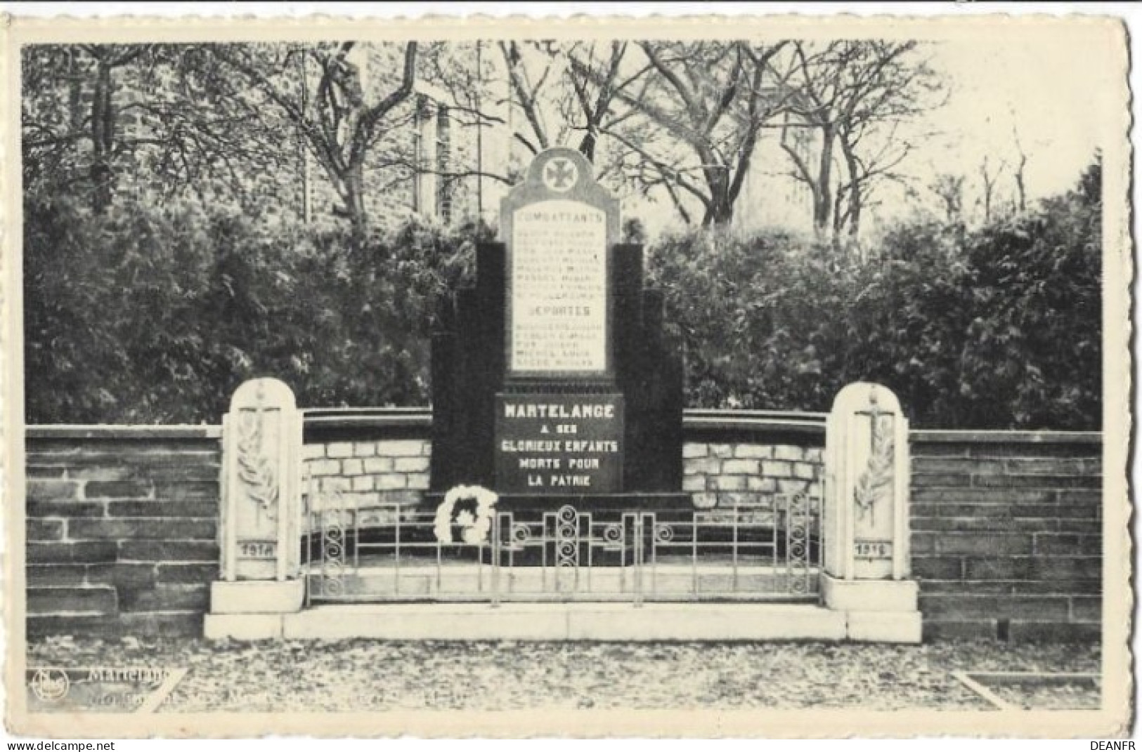
<path fill-rule="evenodd" d="M 915 431 L 912 573 L 926 638 L 1097 640 L 1097 434 Z"/>

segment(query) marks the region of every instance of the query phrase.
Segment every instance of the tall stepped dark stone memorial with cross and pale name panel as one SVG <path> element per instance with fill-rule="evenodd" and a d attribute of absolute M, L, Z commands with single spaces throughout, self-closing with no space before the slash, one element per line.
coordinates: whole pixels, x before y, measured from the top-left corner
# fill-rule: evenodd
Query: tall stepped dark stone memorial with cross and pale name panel
<path fill-rule="evenodd" d="M 475 286 L 437 318 L 432 490 L 689 504 L 682 361 L 661 293 L 643 289 L 642 246 L 618 242 L 618 201 L 579 152 L 552 148 L 500 216 L 505 243 L 477 246 Z"/>

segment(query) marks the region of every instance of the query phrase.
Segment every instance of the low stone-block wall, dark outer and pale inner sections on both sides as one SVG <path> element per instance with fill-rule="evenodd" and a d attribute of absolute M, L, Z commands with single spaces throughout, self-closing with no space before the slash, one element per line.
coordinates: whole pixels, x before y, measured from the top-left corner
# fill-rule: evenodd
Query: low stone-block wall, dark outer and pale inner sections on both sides
<path fill-rule="evenodd" d="M 416 504 L 428 487 L 427 431 L 372 430 L 389 438 L 307 438 L 313 487 L 361 507 Z M 684 483 L 697 507 L 820 493 L 823 431 L 765 443 L 761 431 L 719 430 L 687 428 Z M 29 429 L 30 634 L 201 633 L 218 576 L 218 435 Z M 1100 437 L 914 431 L 911 451 L 925 636 L 1096 639 Z"/>

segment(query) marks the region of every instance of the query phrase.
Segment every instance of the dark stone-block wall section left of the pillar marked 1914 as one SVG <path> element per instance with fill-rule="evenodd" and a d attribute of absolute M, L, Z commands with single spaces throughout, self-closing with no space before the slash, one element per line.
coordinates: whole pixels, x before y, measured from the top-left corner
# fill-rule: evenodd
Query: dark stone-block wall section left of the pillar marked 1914
<path fill-rule="evenodd" d="M 27 431 L 30 637 L 200 634 L 218 574 L 215 427 Z"/>

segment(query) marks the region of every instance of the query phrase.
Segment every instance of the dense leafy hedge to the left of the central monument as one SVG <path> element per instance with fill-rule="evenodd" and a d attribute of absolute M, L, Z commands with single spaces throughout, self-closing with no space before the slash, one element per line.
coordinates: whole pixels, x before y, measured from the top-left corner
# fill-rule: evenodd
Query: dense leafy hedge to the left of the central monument
<path fill-rule="evenodd" d="M 27 422 L 212 422 L 256 375 L 304 406 L 425 404 L 433 305 L 472 231 L 349 251 L 348 231 L 192 205 L 26 205 Z"/>

